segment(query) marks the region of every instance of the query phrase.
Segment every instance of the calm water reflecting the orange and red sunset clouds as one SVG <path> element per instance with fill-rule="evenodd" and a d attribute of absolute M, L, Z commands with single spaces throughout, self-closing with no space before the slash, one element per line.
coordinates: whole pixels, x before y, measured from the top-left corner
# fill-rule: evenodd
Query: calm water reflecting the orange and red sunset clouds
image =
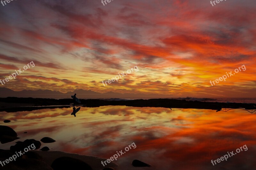
<path fill-rule="evenodd" d="M 51 137 L 56 142 L 42 143 L 41 148 L 109 159 L 134 143 L 136 147 L 114 161 L 119 170 L 255 169 L 256 115 L 244 110 L 102 106 L 81 107 L 76 117 L 70 115 L 72 110 L 0 112 L 0 124 L 13 128 L 20 137 L 0 144 L 0 149 L 25 139 Z M 5 119 L 11 122 L 3 123 Z M 211 160 L 245 146 L 247 150 L 212 165 Z M 152 167 L 133 167 L 134 159 Z"/>

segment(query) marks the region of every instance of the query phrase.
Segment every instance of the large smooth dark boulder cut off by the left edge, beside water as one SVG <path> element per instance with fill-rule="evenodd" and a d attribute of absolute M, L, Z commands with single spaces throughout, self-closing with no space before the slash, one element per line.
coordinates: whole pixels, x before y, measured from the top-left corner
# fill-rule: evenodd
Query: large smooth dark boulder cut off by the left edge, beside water
<path fill-rule="evenodd" d="M 12 142 L 16 139 L 19 139 L 17 137 L 17 133 L 8 126 L 0 126 L 0 142 L 1 144 L 5 144 L 8 142 Z"/>

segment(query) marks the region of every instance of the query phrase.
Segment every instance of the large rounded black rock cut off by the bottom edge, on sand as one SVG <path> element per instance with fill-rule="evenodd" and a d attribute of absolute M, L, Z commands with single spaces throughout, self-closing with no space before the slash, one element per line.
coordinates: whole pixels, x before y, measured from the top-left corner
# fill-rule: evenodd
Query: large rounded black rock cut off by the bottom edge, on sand
<path fill-rule="evenodd" d="M 63 169 L 76 169 L 76 170 L 92 170 L 89 166 L 82 160 L 71 158 L 71 157 L 60 157 L 52 162 L 53 170 L 63 170 Z"/>

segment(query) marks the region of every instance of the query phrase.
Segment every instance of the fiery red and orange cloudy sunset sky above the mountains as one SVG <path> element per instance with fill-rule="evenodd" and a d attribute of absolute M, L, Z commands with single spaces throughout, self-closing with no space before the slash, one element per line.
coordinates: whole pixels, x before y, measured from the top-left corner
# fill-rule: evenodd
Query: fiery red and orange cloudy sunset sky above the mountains
<path fill-rule="evenodd" d="M 35 63 L 0 87 L 256 95 L 255 0 L 17 0 L 0 4 L 0 25 L 0 79 Z M 102 84 L 136 65 L 138 72 Z"/>

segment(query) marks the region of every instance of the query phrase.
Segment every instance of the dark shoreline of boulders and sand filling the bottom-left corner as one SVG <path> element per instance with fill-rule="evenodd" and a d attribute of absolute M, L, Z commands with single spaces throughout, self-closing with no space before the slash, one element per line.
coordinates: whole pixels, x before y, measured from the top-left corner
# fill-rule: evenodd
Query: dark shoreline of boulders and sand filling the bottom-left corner
<path fill-rule="evenodd" d="M 43 137 L 40 141 L 26 139 L 23 142 L 18 134 L 8 126 L 0 125 L 0 143 L 5 144 L 19 139 L 15 145 L 10 146 L 10 150 L 0 149 L 0 169 L 3 170 L 102 170 L 101 161 L 106 159 L 67 153 L 62 151 L 36 151 L 41 148 L 42 143 L 56 142 L 50 137 Z M 31 147 L 29 147 L 31 146 Z M 33 146 L 33 147 L 32 147 Z M 47 151 L 47 152 L 46 152 Z M 23 153 L 22 153 L 23 152 Z M 108 167 L 108 168 L 107 168 Z M 110 162 L 105 169 L 117 170 L 118 165 Z"/>

